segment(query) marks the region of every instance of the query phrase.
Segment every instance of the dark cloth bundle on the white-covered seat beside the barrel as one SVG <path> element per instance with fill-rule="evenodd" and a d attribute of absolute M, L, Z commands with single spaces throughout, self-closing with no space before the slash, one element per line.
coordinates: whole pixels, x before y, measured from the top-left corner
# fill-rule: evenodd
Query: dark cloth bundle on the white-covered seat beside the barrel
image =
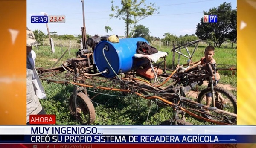
<path fill-rule="evenodd" d="M 148 45 L 147 42 L 142 42 L 142 41 L 137 42 L 136 53 L 143 54 L 143 55 L 151 55 L 157 52 L 158 50 Z"/>

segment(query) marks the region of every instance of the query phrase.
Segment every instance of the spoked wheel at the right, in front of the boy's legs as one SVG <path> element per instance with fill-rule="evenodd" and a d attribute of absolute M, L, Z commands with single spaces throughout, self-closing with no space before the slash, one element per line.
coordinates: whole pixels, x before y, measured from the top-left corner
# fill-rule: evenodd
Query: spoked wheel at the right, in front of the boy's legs
<path fill-rule="evenodd" d="M 197 102 L 203 105 L 207 105 L 207 97 L 206 94 L 207 93 L 211 93 L 212 88 L 211 87 L 207 87 L 206 89 L 202 90 L 201 93 L 199 93 L 198 95 L 198 99 Z M 214 87 L 214 92 L 215 92 L 215 107 L 220 109 L 220 110 L 224 110 L 230 113 L 235 113 L 237 114 L 237 101 L 236 101 L 236 97 L 230 93 L 228 90 L 225 90 L 221 87 Z M 210 97 L 210 107 L 212 107 L 212 97 Z M 202 113 L 202 115 L 205 118 L 211 119 L 211 120 L 221 120 L 221 118 L 215 118 L 214 116 L 219 116 L 218 113 L 211 111 L 211 110 L 207 110 L 203 107 L 201 107 L 201 111 L 205 112 L 207 114 Z M 213 115 L 210 116 L 209 114 Z M 223 115 L 223 118 L 230 120 L 231 122 L 236 122 L 236 118 L 228 116 L 228 115 Z M 223 122 L 223 121 L 221 121 Z"/>

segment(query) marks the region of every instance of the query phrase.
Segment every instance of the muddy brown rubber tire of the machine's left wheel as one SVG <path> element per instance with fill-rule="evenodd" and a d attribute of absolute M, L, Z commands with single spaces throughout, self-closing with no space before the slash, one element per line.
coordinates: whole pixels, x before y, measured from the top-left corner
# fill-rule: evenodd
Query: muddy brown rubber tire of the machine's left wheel
<path fill-rule="evenodd" d="M 70 113 L 74 116 L 73 113 L 76 112 L 76 109 L 73 110 L 73 108 L 71 107 L 71 104 L 74 103 L 73 101 L 73 95 L 70 96 L 70 99 L 69 99 L 69 109 L 70 109 Z M 87 123 L 88 125 L 91 125 L 93 124 L 93 122 L 95 121 L 95 117 L 96 117 L 96 113 L 95 113 L 95 109 L 94 109 L 94 106 L 93 106 L 93 103 L 91 102 L 90 98 L 88 96 L 86 96 L 84 93 L 82 92 L 78 92 L 77 93 L 77 98 L 76 99 L 81 99 L 82 102 L 85 104 L 85 107 L 86 107 L 86 110 L 87 112 L 89 113 L 89 117 L 87 119 Z M 79 113 L 78 113 L 78 116 L 74 116 L 77 120 L 79 120 L 79 122 L 83 123 L 82 120 L 81 120 L 81 117 L 79 116 Z"/>

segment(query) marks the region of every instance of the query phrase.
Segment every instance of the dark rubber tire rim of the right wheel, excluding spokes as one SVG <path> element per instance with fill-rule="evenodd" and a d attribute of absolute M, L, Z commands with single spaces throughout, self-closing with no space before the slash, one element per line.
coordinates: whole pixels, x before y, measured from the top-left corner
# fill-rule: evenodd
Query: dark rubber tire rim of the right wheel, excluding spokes
<path fill-rule="evenodd" d="M 217 91 L 219 93 L 223 93 L 225 94 L 225 96 L 227 96 L 231 103 L 233 104 L 233 107 L 234 107 L 234 113 L 237 114 L 237 101 L 236 101 L 236 97 L 230 93 L 228 90 L 225 90 L 224 88 L 221 88 L 221 87 L 217 87 L 215 86 L 213 88 L 214 91 Z M 205 88 L 204 90 L 202 90 L 199 95 L 198 95 L 198 99 L 197 99 L 197 102 L 198 103 L 201 103 L 201 98 L 203 98 L 205 96 L 206 93 L 208 92 L 211 92 L 212 91 L 212 88 L 211 87 L 207 87 Z M 207 119 L 212 119 L 212 118 L 209 118 L 207 115 L 205 115 L 204 113 L 202 113 L 202 115 L 207 118 Z"/>

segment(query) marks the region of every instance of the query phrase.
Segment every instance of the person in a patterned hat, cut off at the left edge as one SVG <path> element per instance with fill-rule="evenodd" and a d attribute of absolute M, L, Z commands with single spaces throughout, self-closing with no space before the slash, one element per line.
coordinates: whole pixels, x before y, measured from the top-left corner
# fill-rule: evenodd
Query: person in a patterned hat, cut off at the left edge
<path fill-rule="evenodd" d="M 27 28 L 27 115 L 26 122 L 29 125 L 29 115 L 46 114 L 39 99 L 45 99 L 46 94 L 35 69 L 35 52 L 32 46 L 40 45 L 35 40 L 34 33 Z"/>

